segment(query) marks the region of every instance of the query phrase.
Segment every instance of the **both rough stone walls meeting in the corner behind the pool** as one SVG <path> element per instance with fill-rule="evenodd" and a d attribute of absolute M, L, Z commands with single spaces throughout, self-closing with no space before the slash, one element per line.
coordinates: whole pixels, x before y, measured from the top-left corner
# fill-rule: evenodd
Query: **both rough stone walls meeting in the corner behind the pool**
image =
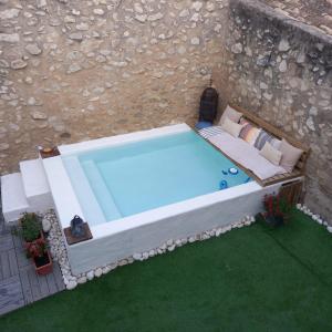
<path fill-rule="evenodd" d="M 252 0 L 0 0 L 0 173 L 37 145 L 194 124 L 212 73 L 311 146 L 307 201 L 330 219 L 331 52 Z"/>

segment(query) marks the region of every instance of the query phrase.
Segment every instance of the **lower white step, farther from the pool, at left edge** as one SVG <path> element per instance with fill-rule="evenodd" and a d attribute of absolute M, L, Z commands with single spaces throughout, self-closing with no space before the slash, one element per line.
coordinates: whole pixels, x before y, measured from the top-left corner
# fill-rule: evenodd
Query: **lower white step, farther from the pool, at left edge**
<path fill-rule="evenodd" d="M 2 212 L 7 222 L 18 220 L 30 206 L 25 197 L 21 173 L 1 176 Z"/>

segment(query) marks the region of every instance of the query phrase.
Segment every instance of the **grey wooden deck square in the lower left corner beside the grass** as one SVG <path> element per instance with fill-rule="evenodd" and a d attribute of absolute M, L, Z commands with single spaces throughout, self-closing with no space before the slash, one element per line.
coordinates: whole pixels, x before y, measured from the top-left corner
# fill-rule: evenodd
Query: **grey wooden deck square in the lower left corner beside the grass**
<path fill-rule="evenodd" d="M 0 314 L 24 305 L 24 299 L 19 276 L 0 281 Z"/>

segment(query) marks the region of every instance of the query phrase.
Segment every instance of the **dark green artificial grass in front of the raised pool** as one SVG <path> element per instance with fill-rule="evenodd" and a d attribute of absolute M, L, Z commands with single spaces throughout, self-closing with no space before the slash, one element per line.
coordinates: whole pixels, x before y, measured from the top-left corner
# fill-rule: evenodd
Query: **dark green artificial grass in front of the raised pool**
<path fill-rule="evenodd" d="M 118 268 L 0 331 L 332 331 L 332 236 L 293 211 Z"/>

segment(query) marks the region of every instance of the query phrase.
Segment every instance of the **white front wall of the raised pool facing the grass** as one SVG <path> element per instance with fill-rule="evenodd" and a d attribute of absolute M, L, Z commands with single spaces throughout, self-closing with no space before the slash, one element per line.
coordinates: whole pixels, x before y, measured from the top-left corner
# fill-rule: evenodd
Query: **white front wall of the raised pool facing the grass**
<path fill-rule="evenodd" d="M 232 188 L 224 190 L 222 194 L 229 194 L 229 198 L 220 197 L 218 194 L 221 191 L 215 193 L 94 227 L 97 235 L 94 239 L 68 247 L 72 272 L 86 272 L 135 252 L 155 249 L 168 239 L 195 236 L 235 224 L 246 216 L 255 216 L 262 210 L 263 196 L 277 191 L 279 187 L 280 184 L 261 188 L 250 183 L 235 187 L 235 193 L 231 193 Z M 247 193 L 232 195 L 239 191 Z M 197 201 L 201 199 L 206 204 Z"/>

